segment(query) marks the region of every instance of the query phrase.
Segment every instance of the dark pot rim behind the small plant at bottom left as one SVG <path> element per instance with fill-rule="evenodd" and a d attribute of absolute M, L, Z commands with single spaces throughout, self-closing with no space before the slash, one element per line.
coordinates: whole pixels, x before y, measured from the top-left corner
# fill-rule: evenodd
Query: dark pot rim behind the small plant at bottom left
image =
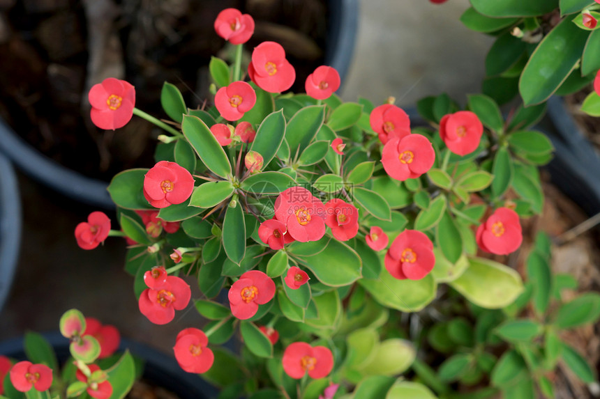
<path fill-rule="evenodd" d="M 69 341 L 59 333 L 44 334 L 57 354 L 59 363 L 69 357 Z M 119 351 L 128 349 L 132 354 L 144 359 L 144 380 L 160 386 L 177 395 L 180 399 L 212 399 L 218 396 L 216 388 L 196 374 L 181 370 L 174 357 L 153 350 L 142 343 L 121 339 Z M 26 360 L 23 338 L 15 338 L 0 343 L 0 354 L 13 359 Z"/>

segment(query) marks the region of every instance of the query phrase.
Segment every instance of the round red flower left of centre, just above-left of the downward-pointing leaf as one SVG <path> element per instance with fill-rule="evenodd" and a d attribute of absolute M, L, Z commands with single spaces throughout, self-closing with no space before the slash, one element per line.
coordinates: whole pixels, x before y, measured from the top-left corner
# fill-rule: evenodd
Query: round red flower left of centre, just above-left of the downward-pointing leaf
<path fill-rule="evenodd" d="M 194 178 L 175 162 L 160 161 L 144 176 L 144 197 L 154 208 L 167 208 L 190 198 Z"/>

